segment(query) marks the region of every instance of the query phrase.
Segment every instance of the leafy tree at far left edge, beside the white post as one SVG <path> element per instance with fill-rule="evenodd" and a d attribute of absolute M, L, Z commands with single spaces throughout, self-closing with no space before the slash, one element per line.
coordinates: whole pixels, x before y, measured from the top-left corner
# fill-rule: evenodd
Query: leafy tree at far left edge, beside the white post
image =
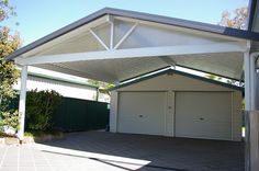
<path fill-rule="evenodd" d="M 14 14 L 9 1 L 0 0 L 0 23 Z M 18 112 L 8 110 L 8 104 L 16 94 L 12 86 L 18 81 L 20 71 L 15 64 L 5 60 L 4 57 L 13 53 L 20 45 L 19 35 L 12 34 L 9 27 L 0 25 L 0 118 L 9 126 L 18 126 Z M 13 118 L 14 116 L 15 118 Z"/>

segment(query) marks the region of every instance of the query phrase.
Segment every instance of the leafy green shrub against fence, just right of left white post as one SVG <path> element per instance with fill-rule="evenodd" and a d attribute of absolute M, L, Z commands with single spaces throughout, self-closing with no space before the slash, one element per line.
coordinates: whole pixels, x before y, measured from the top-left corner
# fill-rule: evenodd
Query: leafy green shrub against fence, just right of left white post
<path fill-rule="evenodd" d="M 50 128 L 50 118 L 60 101 L 61 95 L 54 90 L 29 91 L 26 98 L 27 128 L 31 130 L 46 130 Z"/>

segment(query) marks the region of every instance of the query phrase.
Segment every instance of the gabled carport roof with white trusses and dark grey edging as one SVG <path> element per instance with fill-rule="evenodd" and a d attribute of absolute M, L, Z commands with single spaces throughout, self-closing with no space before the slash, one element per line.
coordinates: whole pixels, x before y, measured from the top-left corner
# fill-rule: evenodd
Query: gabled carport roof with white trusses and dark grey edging
<path fill-rule="evenodd" d="M 239 80 L 244 53 L 249 49 L 247 41 L 259 41 L 255 34 L 106 8 L 7 58 L 106 82 L 120 82 L 169 66 Z"/>

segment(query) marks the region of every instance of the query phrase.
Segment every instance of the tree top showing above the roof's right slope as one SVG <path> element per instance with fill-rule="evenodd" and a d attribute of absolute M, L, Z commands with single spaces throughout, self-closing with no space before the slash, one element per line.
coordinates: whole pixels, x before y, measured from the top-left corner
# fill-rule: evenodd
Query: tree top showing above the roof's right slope
<path fill-rule="evenodd" d="M 226 10 L 222 13 L 222 19 L 219 25 L 234 27 L 239 30 L 246 30 L 247 18 L 248 18 L 248 8 L 243 7 L 234 11 L 235 15 L 232 18 L 230 13 Z"/>

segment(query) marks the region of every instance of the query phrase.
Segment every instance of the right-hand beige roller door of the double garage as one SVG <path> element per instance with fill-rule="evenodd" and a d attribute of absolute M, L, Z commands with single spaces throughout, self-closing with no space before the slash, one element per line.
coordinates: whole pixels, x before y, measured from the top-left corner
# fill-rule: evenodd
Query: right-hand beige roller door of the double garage
<path fill-rule="evenodd" d="M 177 92 L 176 136 L 232 139 L 230 92 Z"/>

